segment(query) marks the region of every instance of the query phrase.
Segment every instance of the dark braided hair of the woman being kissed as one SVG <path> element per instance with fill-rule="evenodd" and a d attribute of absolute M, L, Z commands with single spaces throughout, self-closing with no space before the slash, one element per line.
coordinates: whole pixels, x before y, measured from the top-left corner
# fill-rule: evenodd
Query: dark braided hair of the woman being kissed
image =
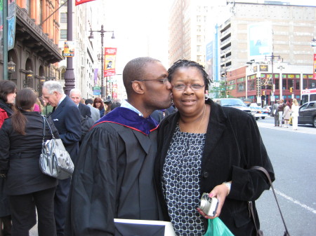
<path fill-rule="evenodd" d="M 206 73 L 204 67 L 202 66 L 202 64 L 199 64 L 197 62 L 193 62 L 190 60 L 182 59 L 182 60 L 178 60 L 178 61 L 173 63 L 173 65 L 168 69 L 168 80 L 170 82 L 171 82 L 171 79 L 173 77 L 173 74 L 180 67 L 195 67 L 195 68 L 197 68 L 201 72 L 201 74 L 204 78 L 205 90 L 209 90 L 209 84 L 210 84 L 209 75 Z"/>

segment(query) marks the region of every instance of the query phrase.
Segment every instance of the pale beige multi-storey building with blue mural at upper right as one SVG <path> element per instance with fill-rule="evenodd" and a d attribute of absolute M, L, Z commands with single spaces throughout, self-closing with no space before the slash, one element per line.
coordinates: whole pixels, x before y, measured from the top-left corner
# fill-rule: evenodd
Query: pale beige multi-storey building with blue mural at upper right
<path fill-rule="evenodd" d="M 289 64 L 312 64 L 315 7 L 235 1 L 231 12 L 219 27 L 220 67 L 237 69 L 249 60 L 263 61 L 272 52 Z"/>

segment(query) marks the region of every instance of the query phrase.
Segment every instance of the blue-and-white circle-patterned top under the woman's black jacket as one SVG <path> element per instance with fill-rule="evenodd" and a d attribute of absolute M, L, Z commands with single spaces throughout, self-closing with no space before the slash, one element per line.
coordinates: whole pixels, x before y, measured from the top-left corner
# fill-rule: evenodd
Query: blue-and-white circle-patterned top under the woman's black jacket
<path fill-rule="evenodd" d="M 162 186 L 176 235 L 205 234 L 199 186 L 205 134 L 180 132 L 177 125 L 163 167 Z"/>

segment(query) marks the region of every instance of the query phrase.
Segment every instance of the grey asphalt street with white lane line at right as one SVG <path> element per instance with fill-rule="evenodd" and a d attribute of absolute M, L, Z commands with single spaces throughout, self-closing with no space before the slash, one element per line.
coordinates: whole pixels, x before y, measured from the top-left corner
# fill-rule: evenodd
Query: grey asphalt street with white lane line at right
<path fill-rule="evenodd" d="M 257 121 L 275 169 L 273 183 L 291 236 L 314 236 L 316 232 L 316 128 L 311 125 L 274 127 L 271 117 Z M 265 236 L 283 235 L 284 226 L 271 190 L 256 201 Z M 37 236 L 37 227 L 31 230 Z"/>

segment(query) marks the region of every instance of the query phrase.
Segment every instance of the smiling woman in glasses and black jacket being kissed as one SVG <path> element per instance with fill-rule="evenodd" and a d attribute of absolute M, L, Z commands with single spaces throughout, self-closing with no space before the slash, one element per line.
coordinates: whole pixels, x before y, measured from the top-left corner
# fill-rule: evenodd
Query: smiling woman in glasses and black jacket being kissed
<path fill-rule="evenodd" d="M 270 185 L 249 168 L 265 167 L 274 179 L 256 121 L 205 99 L 209 79 L 196 62 L 179 60 L 168 73 L 178 112 L 162 121 L 158 134 L 155 182 L 164 220 L 173 223 L 176 235 L 204 235 L 212 217 L 197 207 L 202 193 L 209 193 L 218 198 L 215 217 L 235 236 L 256 235 L 248 202 Z"/>

